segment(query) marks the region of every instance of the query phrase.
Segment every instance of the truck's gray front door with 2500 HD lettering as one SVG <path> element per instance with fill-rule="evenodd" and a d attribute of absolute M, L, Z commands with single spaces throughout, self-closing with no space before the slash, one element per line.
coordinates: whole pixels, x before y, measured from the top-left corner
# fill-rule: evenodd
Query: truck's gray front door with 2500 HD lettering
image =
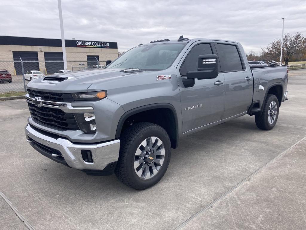
<path fill-rule="evenodd" d="M 188 71 L 196 71 L 198 57 L 207 54 L 213 54 L 209 43 L 198 43 L 189 48 L 180 67 L 179 80 L 186 78 Z M 221 120 L 225 105 L 224 85 L 222 73 L 215 79 L 195 79 L 193 87 L 185 88 L 180 84 L 183 132 Z"/>

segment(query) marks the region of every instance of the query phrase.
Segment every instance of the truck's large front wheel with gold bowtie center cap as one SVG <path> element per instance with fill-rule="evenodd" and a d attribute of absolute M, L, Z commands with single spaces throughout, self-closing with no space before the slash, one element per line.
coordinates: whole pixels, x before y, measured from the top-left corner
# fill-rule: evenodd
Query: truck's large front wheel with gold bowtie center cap
<path fill-rule="evenodd" d="M 115 175 L 125 185 L 144 190 L 163 177 L 170 157 L 171 143 L 165 129 L 153 123 L 135 123 L 120 137 Z"/>

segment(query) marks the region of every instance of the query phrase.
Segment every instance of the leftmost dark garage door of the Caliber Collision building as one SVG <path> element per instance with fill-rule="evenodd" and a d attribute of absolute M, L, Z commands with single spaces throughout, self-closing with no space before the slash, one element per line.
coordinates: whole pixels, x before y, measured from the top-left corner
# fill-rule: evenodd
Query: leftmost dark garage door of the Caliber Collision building
<path fill-rule="evenodd" d="M 23 61 L 24 72 L 30 70 L 39 70 L 37 52 L 13 51 L 13 59 L 14 59 L 16 75 L 22 75 L 20 57 Z"/>

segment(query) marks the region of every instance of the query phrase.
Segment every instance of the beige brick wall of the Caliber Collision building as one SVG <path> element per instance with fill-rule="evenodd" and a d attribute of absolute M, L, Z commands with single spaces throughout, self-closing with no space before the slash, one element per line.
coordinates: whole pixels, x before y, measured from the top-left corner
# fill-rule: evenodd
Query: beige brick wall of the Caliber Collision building
<path fill-rule="evenodd" d="M 15 75 L 13 51 L 37 52 L 39 69 L 45 73 L 44 52 L 62 52 L 62 47 L 0 45 L 0 69 L 7 69 L 12 75 Z M 78 70 L 82 67 L 79 63 L 87 66 L 87 55 L 99 56 L 100 64 L 105 64 L 106 60 L 114 60 L 118 57 L 118 49 L 66 47 L 67 68 Z"/>

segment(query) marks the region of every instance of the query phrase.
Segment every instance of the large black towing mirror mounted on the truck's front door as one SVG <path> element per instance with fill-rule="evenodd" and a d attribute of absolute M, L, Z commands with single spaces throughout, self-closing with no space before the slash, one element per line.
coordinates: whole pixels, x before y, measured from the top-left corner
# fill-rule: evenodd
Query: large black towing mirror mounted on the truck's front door
<path fill-rule="evenodd" d="M 188 71 L 187 79 L 214 79 L 218 77 L 218 56 L 215 54 L 200 55 L 198 70 Z"/>

